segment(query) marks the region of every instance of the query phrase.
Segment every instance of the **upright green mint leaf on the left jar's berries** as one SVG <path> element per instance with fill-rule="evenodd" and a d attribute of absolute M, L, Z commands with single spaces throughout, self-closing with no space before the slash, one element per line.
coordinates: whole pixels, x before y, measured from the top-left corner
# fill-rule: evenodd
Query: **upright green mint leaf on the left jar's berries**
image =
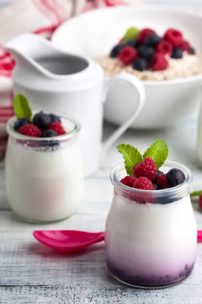
<path fill-rule="evenodd" d="M 29 120 L 31 119 L 32 111 L 29 102 L 24 95 L 16 94 L 13 99 L 13 106 L 17 119 L 21 117 L 26 117 Z"/>

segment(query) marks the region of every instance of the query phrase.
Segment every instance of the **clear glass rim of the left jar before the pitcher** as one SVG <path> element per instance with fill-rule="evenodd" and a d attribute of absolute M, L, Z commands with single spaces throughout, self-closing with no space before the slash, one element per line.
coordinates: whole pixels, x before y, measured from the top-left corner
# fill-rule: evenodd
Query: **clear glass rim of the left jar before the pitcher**
<path fill-rule="evenodd" d="M 80 129 L 81 129 L 81 125 L 78 121 L 76 121 L 75 119 L 73 118 L 70 118 L 70 117 L 66 117 L 64 115 L 61 115 L 60 113 L 56 113 L 57 116 L 61 117 L 62 119 L 64 119 L 66 122 L 69 121 L 71 122 L 74 127 L 73 129 L 66 133 L 66 134 L 63 134 L 63 135 L 60 135 L 60 136 L 53 136 L 53 137 L 31 137 L 31 136 L 26 136 L 26 135 L 23 135 L 23 134 L 20 134 L 18 132 L 16 132 L 13 128 L 14 126 L 14 123 L 16 121 L 16 116 L 13 116 L 12 118 L 9 119 L 9 121 L 7 122 L 7 125 L 6 125 L 6 130 L 8 132 L 9 135 L 17 138 L 17 139 L 21 139 L 21 140 L 33 140 L 33 141 L 53 141 L 53 140 L 66 140 L 66 139 L 69 139 L 70 137 L 72 137 L 74 134 L 76 133 L 79 133 Z"/>

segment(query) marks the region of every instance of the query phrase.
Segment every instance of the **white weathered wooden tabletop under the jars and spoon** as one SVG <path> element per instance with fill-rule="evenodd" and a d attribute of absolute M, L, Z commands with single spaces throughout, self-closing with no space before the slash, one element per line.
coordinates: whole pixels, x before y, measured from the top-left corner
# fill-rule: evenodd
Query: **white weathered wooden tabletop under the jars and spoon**
<path fill-rule="evenodd" d="M 182 128 L 183 126 L 183 128 Z M 114 129 L 105 126 L 105 135 Z M 180 131 L 181 129 L 181 131 Z M 191 190 L 202 189 L 202 171 L 196 166 L 195 119 L 159 132 L 127 131 L 116 143 L 133 144 L 143 152 L 158 138 L 170 147 L 169 159 L 187 165 L 194 174 Z M 54 224 L 33 225 L 19 221 L 7 205 L 4 165 L 0 169 L 0 303 L 1 304 L 201 304 L 202 244 L 198 245 L 193 274 L 183 283 L 160 290 L 133 289 L 113 280 L 105 263 L 104 244 L 89 248 L 80 255 L 60 255 L 37 243 L 35 229 L 75 229 L 103 231 L 113 195 L 109 172 L 122 162 L 114 145 L 100 169 L 85 180 L 85 193 L 78 212 Z M 193 204 L 198 229 L 202 213 Z M 187 223 L 188 224 L 188 223 Z"/>

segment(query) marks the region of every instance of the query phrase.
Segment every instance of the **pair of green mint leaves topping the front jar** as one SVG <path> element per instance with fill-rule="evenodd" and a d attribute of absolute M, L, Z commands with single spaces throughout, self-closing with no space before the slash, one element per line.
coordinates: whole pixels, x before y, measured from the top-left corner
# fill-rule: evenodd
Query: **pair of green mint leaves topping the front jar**
<path fill-rule="evenodd" d="M 146 157 L 153 159 L 157 165 L 157 169 L 159 169 L 167 160 L 169 153 L 168 146 L 162 139 L 158 139 L 151 144 L 150 147 L 145 151 L 143 157 L 138 149 L 130 144 L 119 144 L 117 149 L 123 155 L 126 172 L 129 175 L 133 175 L 133 167 L 142 162 Z"/>

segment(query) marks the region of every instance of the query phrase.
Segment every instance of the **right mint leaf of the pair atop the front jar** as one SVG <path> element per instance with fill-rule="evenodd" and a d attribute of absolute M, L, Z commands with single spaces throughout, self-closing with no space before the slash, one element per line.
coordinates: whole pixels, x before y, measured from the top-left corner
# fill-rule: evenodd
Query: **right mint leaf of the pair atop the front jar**
<path fill-rule="evenodd" d="M 163 139 L 158 139 L 145 151 L 143 159 L 150 157 L 153 159 L 159 169 L 167 160 L 168 146 Z"/>

